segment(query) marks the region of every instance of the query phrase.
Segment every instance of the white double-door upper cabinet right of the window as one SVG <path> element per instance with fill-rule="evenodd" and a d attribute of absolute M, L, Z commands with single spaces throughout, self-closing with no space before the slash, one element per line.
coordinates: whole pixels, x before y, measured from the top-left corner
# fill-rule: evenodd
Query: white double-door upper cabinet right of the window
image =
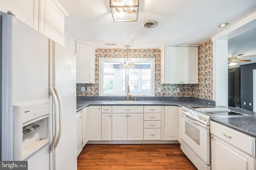
<path fill-rule="evenodd" d="M 162 84 L 198 84 L 198 47 L 164 47 Z"/>

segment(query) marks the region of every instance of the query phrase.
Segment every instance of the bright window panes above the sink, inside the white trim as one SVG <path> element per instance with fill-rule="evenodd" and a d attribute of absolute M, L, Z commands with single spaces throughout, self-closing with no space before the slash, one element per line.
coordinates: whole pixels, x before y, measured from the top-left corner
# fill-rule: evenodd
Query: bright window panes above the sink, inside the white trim
<path fill-rule="evenodd" d="M 99 95 L 126 96 L 128 84 L 132 96 L 154 96 L 155 59 L 131 58 L 134 69 L 120 69 L 124 58 L 100 58 Z"/>

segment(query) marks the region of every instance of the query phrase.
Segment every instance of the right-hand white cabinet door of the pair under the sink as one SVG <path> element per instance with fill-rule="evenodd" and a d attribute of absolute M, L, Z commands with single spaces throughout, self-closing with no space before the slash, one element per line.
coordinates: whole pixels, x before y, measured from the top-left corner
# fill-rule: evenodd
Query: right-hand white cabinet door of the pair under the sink
<path fill-rule="evenodd" d="M 128 140 L 143 140 L 143 113 L 128 114 Z"/>

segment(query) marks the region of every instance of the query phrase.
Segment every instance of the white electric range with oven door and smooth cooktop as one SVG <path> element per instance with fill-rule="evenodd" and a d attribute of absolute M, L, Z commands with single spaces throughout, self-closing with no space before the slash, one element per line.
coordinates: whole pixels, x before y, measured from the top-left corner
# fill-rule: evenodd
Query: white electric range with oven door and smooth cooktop
<path fill-rule="evenodd" d="M 198 170 L 211 169 L 210 117 L 250 116 L 214 106 L 187 106 L 180 112 L 180 148 Z"/>

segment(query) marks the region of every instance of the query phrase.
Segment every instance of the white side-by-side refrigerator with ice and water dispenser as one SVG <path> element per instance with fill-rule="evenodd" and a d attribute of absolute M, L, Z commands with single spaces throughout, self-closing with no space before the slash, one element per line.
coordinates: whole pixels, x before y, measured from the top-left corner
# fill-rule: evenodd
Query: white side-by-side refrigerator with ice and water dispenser
<path fill-rule="evenodd" d="M 75 54 L 11 13 L 0 12 L 0 40 L 1 160 L 76 170 Z"/>

